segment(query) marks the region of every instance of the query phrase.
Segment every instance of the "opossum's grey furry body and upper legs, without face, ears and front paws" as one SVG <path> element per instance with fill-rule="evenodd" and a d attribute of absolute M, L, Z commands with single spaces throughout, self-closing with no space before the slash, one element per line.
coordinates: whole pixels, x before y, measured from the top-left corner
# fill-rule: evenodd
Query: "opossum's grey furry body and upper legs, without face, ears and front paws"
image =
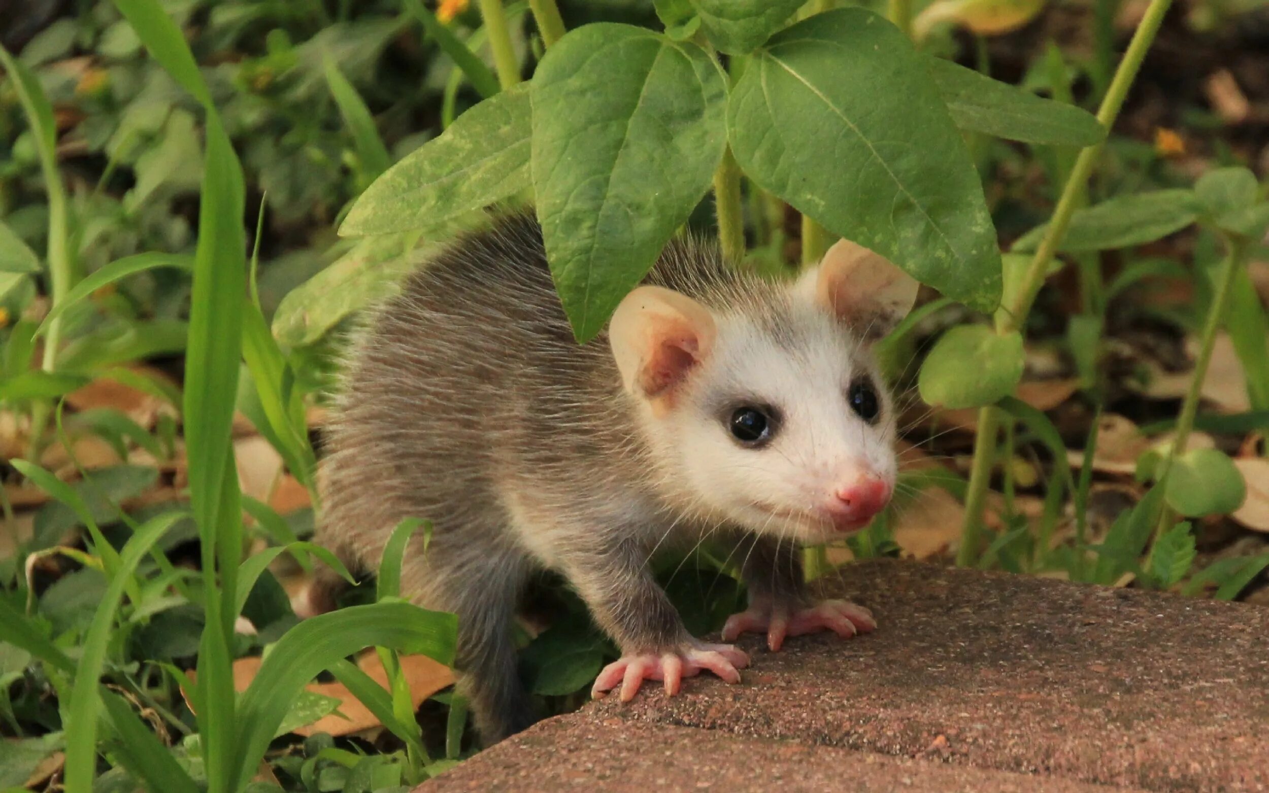
<path fill-rule="evenodd" d="M 786 292 L 712 247 L 673 242 L 647 283 L 746 311 L 796 343 Z M 667 534 L 692 543 L 718 527 L 667 495 L 631 400 L 607 338 L 574 341 L 530 217 L 449 246 L 354 344 L 319 539 L 373 570 L 401 519 L 434 523 L 426 557 L 418 539 L 406 556 L 402 590 L 458 614 L 461 685 L 486 742 L 532 721 L 510 624 L 536 567 L 563 572 L 624 652 L 690 641 L 646 562 Z M 741 537 L 754 591 L 802 599 L 793 543 Z"/>

